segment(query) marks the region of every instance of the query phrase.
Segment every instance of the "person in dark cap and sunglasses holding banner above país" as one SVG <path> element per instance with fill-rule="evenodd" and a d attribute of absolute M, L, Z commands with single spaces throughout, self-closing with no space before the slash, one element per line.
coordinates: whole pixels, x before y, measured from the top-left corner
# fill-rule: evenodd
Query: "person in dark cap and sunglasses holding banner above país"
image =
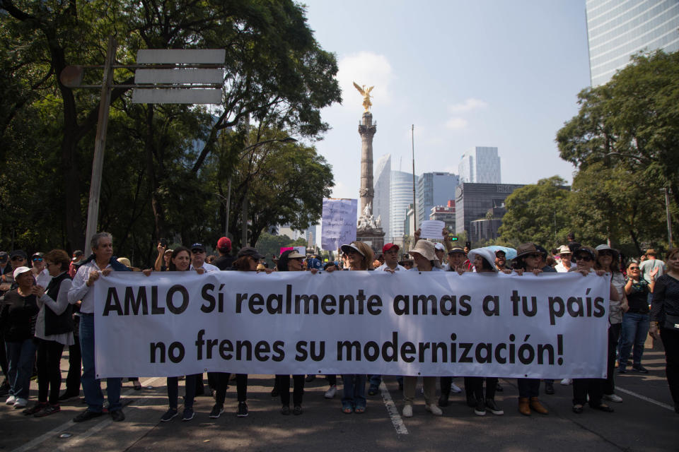
<path fill-rule="evenodd" d="M 574 269 L 586 276 L 593 271 L 598 276 L 605 275 L 604 270 L 594 270 L 594 263 L 596 262 L 596 251 L 589 246 L 579 246 L 573 250 L 573 261 L 576 263 Z M 610 297 L 614 302 L 620 301 L 620 295 L 613 284 L 610 285 Z M 606 346 L 608 349 L 608 345 Z M 573 412 L 581 414 L 587 397 L 589 396 L 589 406 L 594 410 L 603 412 L 613 412 L 613 408 L 602 402 L 603 388 L 606 379 L 573 379 Z"/>

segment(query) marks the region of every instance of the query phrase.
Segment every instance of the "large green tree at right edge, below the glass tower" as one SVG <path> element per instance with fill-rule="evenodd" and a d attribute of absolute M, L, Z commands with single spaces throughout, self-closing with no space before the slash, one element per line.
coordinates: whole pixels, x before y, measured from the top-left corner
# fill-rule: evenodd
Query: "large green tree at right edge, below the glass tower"
<path fill-rule="evenodd" d="M 671 190 L 674 230 L 678 224 L 679 52 L 632 60 L 606 85 L 581 91 L 579 112 L 557 143 L 561 157 L 579 167 L 576 228 L 639 253 L 642 242 L 668 246 L 663 187 Z"/>

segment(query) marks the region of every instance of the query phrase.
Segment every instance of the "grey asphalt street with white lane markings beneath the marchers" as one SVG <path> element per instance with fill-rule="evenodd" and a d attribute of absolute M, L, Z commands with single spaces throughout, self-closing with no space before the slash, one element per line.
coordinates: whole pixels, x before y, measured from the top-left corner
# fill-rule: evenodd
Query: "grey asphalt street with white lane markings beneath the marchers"
<path fill-rule="evenodd" d="M 62 364 L 65 378 L 67 360 Z M 457 395 L 443 408 L 443 417 L 434 417 L 424 410 L 418 389 L 414 417 L 402 419 L 395 377 L 385 379 L 381 395 L 368 398 L 364 415 L 344 415 L 340 395 L 325 400 L 327 383 L 317 378 L 307 383 L 303 415 L 282 416 L 279 400 L 269 395 L 272 376 L 256 375 L 249 380 L 248 417 L 236 417 L 233 381 L 226 412 L 219 419 L 208 417 L 212 399 L 199 397 L 194 420 L 181 422 L 175 417 L 162 423 L 159 419 L 167 405 L 165 379 L 142 378 L 141 383 L 152 388 L 134 391 L 132 383 L 124 383 L 122 394 L 129 399 L 124 422 L 114 423 L 108 416 L 81 424 L 71 422 L 85 408 L 79 399 L 44 418 L 25 417 L 21 410 L 0 405 L 0 451 L 677 451 L 679 415 L 671 407 L 661 350 L 646 350 L 644 365 L 649 374 L 617 376 L 618 394 L 624 400 L 610 403 L 615 413 L 586 408 L 582 415 L 574 414 L 571 386 L 557 382 L 554 396 L 541 395 L 550 414 L 531 417 L 516 411 L 516 381 L 501 379 L 504 392 L 498 393 L 496 400 L 504 408 L 504 416 L 487 412 L 478 417 L 465 405 L 464 397 Z M 461 378 L 454 381 L 463 384 Z M 35 381 L 33 389 L 31 398 L 35 400 Z"/>

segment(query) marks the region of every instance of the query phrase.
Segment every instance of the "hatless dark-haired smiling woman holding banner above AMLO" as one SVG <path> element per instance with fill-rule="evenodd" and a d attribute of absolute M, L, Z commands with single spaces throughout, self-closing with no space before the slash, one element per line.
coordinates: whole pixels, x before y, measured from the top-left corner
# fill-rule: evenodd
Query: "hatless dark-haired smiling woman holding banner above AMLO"
<path fill-rule="evenodd" d="M 178 246 L 172 251 L 170 256 L 170 271 L 189 271 L 191 266 L 191 251 L 185 246 Z M 199 275 L 205 272 L 203 268 L 195 269 Z M 193 411 L 193 400 L 196 396 L 196 386 L 202 374 L 187 375 L 185 380 L 185 395 L 184 395 L 184 412 L 182 413 L 182 421 L 190 421 L 195 416 Z M 179 377 L 168 376 L 168 402 L 170 408 L 161 417 L 161 422 L 168 422 L 173 420 L 178 415 L 178 398 L 179 398 Z"/>

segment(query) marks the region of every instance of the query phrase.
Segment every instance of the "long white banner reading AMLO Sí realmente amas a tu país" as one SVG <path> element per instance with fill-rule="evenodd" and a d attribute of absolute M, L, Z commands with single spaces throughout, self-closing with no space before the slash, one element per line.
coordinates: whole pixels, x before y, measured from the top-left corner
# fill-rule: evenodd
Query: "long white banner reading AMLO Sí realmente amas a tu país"
<path fill-rule="evenodd" d="M 608 289 L 579 273 L 113 272 L 95 283 L 97 378 L 603 378 Z"/>

